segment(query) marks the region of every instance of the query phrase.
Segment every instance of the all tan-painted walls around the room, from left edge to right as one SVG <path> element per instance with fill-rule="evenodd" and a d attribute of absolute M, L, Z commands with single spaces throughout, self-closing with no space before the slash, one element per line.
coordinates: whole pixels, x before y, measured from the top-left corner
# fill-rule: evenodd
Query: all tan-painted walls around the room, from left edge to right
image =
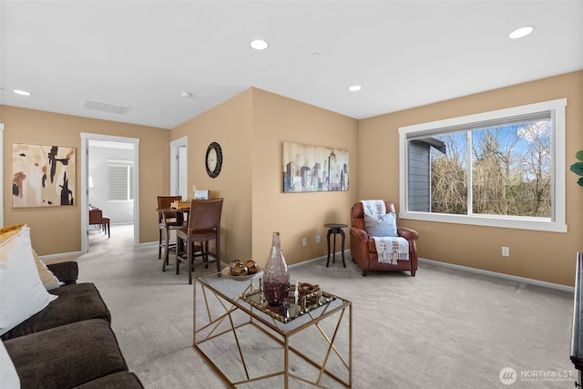
<path fill-rule="evenodd" d="M 169 192 L 169 142 L 189 138 L 187 188 L 210 189 L 225 199 L 221 249 L 223 261 L 267 260 L 271 232 L 279 230 L 286 260 L 297 263 L 326 254 L 325 222 L 350 224 L 354 201 L 383 198 L 398 206 L 398 128 L 427 121 L 568 98 L 567 161 L 583 148 L 583 71 L 496 89 L 376 118 L 355 120 L 261 89 L 250 88 L 218 107 L 171 130 L 5 107 L 5 224 L 27 222 L 41 255 L 80 250 L 79 205 L 58 209 L 13 210 L 12 142 L 56 143 L 80 150 L 80 133 L 139 138 L 140 242 L 158 241 L 156 196 Z M 204 157 L 210 142 L 223 149 L 220 176 L 210 179 Z M 350 151 L 350 188 L 344 192 L 283 193 L 283 141 L 346 148 Z M 80 158 L 77 153 L 77 163 Z M 568 233 L 400 220 L 420 232 L 419 254 L 487 271 L 572 285 L 574 258 L 583 251 L 583 188 L 567 175 Z M 77 182 L 80 169 L 77 169 Z M 58 220 L 58 228 L 56 221 Z M 346 230 L 348 232 L 348 230 Z M 315 242 L 315 235 L 322 242 Z M 302 247 L 302 238 L 308 245 Z M 349 242 L 347 240 L 346 247 Z M 510 248 L 510 257 L 500 255 Z"/>

